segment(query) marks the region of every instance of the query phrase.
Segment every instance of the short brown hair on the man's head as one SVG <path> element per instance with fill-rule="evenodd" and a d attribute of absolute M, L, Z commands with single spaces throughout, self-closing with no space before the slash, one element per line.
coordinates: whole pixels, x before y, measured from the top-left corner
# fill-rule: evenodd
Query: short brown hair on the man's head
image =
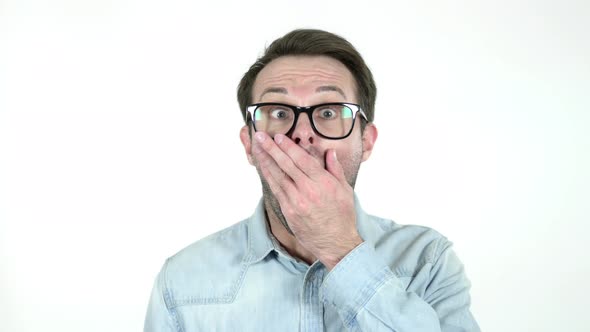
<path fill-rule="evenodd" d="M 369 122 L 373 121 L 377 87 L 371 70 L 359 52 L 346 39 L 333 33 L 297 29 L 272 42 L 242 77 L 238 85 L 238 103 L 244 122 L 247 121 L 246 107 L 252 103 L 252 87 L 258 73 L 272 60 L 287 55 L 325 55 L 342 62 L 356 81 L 358 103 Z"/>

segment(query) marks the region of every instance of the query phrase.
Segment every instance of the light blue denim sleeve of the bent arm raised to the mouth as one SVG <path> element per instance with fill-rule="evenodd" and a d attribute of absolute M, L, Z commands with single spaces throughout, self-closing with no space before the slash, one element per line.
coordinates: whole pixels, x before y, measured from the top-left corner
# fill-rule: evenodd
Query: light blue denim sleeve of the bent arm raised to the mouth
<path fill-rule="evenodd" d="M 469 311 L 463 265 L 450 243 L 437 247 L 435 261 L 427 263 L 430 280 L 422 297 L 406 291 L 373 246 L 363 242 L 327 275 L 322 301 L 336 308 L 349 331 L 480 331 Z"/>

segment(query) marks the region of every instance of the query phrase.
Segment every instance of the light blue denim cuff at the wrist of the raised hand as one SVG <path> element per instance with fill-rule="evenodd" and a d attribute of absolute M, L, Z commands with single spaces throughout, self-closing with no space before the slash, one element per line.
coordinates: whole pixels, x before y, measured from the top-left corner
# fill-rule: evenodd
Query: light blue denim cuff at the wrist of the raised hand
<path fill-rule="evenodd" d="M 385 283 L 397 279 L 373 246 L 361 243 L 328 273 L 320 289 L 324 304 L 338 310 L 349 324 Z"/>

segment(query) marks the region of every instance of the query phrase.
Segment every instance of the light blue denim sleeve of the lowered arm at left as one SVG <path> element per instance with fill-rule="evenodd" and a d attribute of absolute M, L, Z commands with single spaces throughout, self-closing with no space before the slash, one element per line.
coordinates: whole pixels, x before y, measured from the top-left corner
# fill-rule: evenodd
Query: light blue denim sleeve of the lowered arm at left
<path fill-rule="evenodd" d="M 164 265 L 154 283 L 143 326 L 144 332 L 180 331 L 175 319 L 175 312 L 171 311 L 166 305 L 169 295 L 165 286 L 165 271 L 166 265 Z"/>

